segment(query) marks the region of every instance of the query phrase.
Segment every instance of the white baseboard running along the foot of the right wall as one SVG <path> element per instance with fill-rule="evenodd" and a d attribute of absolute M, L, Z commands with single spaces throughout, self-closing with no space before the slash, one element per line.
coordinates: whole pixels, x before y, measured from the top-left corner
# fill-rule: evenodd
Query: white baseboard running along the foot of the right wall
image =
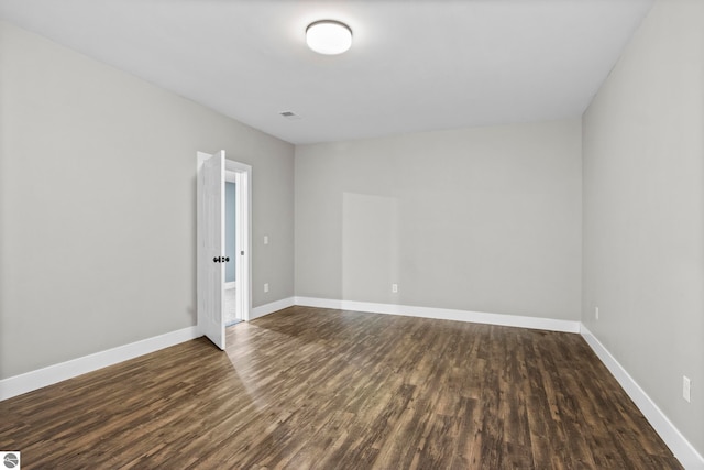
<path fill-rule="evenodd" d="M 682 436 L 682 433 L 674 427 L 666 414 L 662 413 L 652 400 L 650 400 L 648 394 L 630 376 L 626 369 L 618 363 L 608 349 L 606 349 L 606 347 L 604 347 L 604 345 L 602 345 L 602 342 L 584 326 L 584 324 L 581 325 L 580 334 L 614 378 L 616 378 L 620 386 L 626 391 L 628 396 L 630 396 L 630 400 L 634 401 L 636 406 L 638 406 L 640 412 L 660 435 L 662 440 L 664 440 L 668 447 L 670 447 L 670 450 L 672 450 L 672 453 L 674 453 L 674 457 L 678 458 L 680 463 L 682 463 L 685 469 L 690 470 L 704 469 L 704 458 L 696 451 L 690 441 Z"/>

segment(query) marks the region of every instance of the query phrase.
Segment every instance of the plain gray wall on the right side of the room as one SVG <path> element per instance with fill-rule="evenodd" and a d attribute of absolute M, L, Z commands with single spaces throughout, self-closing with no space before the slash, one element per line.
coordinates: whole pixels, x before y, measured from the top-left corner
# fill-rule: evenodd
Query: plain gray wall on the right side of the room
<path fill-rule="evenodd" d="M 701 0 L 657 2 L 584 116 L 582 314 L 701 453 L 703 25 Z"/>

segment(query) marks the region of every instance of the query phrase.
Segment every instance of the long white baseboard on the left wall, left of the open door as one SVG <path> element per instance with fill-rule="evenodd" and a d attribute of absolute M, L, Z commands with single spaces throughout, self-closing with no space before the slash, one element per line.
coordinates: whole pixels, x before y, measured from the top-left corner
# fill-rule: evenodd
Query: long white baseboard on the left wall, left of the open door
<path fill-rule="evenodd" d="M 201 336 L 197 327 L 180 330 L 119 346 L 117 348 L 84 356 L 43 369 L 0 380 L 0 401 L 32 392 L 54 383 L 82 375 L 108 365 L 117 364 L 139 356 L 158 351 Z"/>

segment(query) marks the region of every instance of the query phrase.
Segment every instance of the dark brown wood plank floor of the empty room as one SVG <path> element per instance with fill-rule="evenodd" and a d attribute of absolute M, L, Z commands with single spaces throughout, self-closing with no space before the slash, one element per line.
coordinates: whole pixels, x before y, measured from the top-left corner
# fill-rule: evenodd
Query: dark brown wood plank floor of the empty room
<path fill-rule="evenodd" d="M 293 307 L 0 402 L 50 469 L 674 469 L 579 335 Z"/>

